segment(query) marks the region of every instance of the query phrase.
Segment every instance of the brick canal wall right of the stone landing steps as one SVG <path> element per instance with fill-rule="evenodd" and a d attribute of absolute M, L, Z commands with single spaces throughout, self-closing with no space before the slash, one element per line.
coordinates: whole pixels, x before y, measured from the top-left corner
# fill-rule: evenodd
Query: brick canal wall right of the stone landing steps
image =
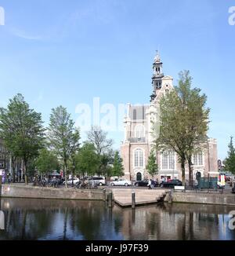
<path fill-rule="evenodd" d="M 165 202 L 171 201 L 168 194 L 164 198 Z M 172 203 L 201 203 L 235 206 L 235 195 L 219 193 L 195 193 L 195 192 L 172 192 Z"/>

